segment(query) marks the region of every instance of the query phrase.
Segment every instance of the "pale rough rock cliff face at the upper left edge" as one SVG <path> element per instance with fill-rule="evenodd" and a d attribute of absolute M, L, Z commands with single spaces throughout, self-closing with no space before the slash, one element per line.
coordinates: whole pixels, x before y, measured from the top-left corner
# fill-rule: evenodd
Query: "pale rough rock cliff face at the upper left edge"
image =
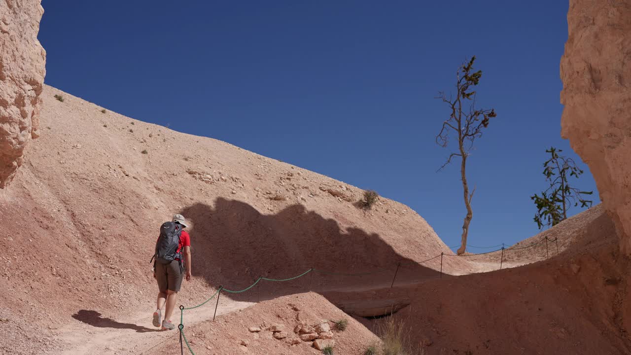
<path fill-rule="evenodd" d="M 37 40 L 41 0 L 0 3 L 0 188 L 22 164 L 30 138 L 37 138 L 46 52 Z"/>

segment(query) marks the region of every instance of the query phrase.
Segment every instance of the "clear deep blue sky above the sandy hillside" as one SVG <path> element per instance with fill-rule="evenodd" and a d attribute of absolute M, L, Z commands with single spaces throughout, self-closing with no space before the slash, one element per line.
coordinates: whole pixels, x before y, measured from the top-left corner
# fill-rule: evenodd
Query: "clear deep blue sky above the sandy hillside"
<path fill-rule="evenodd" d="M 538 232 L 545 149 L 562 148 L 567 1 L 44 0 L 45 82 L 112 111 L 209 136 L 410 205 L 445 243 L 465 214 L 435 135 L 471 55 L 494 107 L 468 162 L 469 243 Z M 594 201 L 598 201 L 597 193 Z M 570 210 L 571 214 L 579 209 Z M 476 250 L 471 250 L 476 251 Z"/>

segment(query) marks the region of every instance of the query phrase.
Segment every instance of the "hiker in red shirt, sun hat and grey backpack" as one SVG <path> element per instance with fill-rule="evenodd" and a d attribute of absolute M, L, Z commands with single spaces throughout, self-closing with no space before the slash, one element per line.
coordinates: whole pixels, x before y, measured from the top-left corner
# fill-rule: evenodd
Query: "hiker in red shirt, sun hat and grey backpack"
<path fill-rule="evenodd" d="M 153 277 L 158 282 L 158 301 L 156 311 L 153 313 L 153 325 L 163 330 L 175 328 L 171 322 L 171 315 L 177 301 L 177 292 L 182 286 L 184 270 L 186 280 L 191 280 L 191 237 L 184 231 L 187 228 L 184 216 L 174 215 L 172 222 L 164 222 L 160 227 L 160 236 L 156 241 L 155 254 L 153 255 Z M 184 260 L 182 260 L 184 256 Z M 162 306 L 165 307 L 164 320 L 162 320 Z M 162 321 L 162 323 L 161 323 Z"/>

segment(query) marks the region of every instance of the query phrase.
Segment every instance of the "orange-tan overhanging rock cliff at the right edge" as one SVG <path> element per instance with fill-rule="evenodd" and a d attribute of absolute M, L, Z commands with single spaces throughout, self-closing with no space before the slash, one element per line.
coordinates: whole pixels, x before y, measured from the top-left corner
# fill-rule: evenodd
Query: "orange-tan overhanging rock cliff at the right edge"
<path fill-rule="evenodd" d="M 570 0 L 562 136 L 589 165 L 631 254 L 631 0 Z"/>

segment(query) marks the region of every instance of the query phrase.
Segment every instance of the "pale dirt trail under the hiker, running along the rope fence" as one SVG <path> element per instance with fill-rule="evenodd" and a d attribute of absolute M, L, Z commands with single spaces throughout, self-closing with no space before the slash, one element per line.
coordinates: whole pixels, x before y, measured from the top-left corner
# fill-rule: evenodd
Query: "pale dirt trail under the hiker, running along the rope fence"
<path fill-rule="evenodd" d="M 474 265 L 475 266 L 475 265 Z M 488 268 L 492 270 L 497 267 L 493 263 L 482 263 L 480 270 Z M 317 292 L 352 292 L 362 294 L 362 292 L 371 292 L 391 286 L 391 281 L 396 270 L 388 270 L 388 272 L 378 273 L 377 277 L 370 276 L 370 282 L 355 280 L 350 284 L 339 282 L 330 275 L 315 276 L 313 286 Z M 448 275 L 445 274 L 445 277 Z M 309 277 L 309 276 L 306 276 Z M 305 278 L 306 278 L 305 277 Z M 352 277 L 351 277 L 352 278 Z M 348 280 L 348 277 L 343 277 Z M 418 275 L 407 273 L 400 270 L 396 277 L 395 289 L 400 287 L 411 287 L 423 282 L 425 279 L 419 279 Z M 256 287 L 256 286 L 255 286 Z M 292 288 L 291 285 L 282 283 L 274 283 L 273 286 L 263 286 L 269 289 L 273 287 L 274 293 L 262 294 L 262 300 L 275 299 L 282 294 L 292 294 L 304 292 L 303 287 Z M 209 294 L 214 292 L 209 291 Z M 250 295 L 256 294 L 257 289 L 249 291 Z M 264 291 L 265 292 L 265 291 Z M 186 290 L 183 290 L 186 294 Z M 227 315 L 235 311 L 243 310 L 250 306 L 254 306 L 256 301 L 237 301 L 233 298 L 239 298 L 239 295 L 226 294 L 223 292 L 220 297 L 219 306 L 217 308 L 217 316 Z M 177 331 L 166 332 L 160 331 L 151 325 L 151 310 L 148 307 L 146 312 L 137 313 L 134 316 L 122 316 L 115 319 L 95 314 L 94 311 L 80 315 L 78 318 L 83 321 L 74 319 L 71 325 L 59 329 L 58 340 L 63 344 L 64 351 L 59 352 L 60 355 L 72 354 L 144 354 L 151 352 L 154 347 L 161 346 L 163 342 L 174 341 L 177 338 Z M 194 310 L 186 310 L 184 312 L 185 324 L 187 329 L 213 319 L 215 313 L 215 299 L 204 304 L 200 308 Z M 179 310 L 174 311 L 172 317 L 174 322 L 179 323 Z M 179 341 L 179 340 L 178 340 Z"/>

